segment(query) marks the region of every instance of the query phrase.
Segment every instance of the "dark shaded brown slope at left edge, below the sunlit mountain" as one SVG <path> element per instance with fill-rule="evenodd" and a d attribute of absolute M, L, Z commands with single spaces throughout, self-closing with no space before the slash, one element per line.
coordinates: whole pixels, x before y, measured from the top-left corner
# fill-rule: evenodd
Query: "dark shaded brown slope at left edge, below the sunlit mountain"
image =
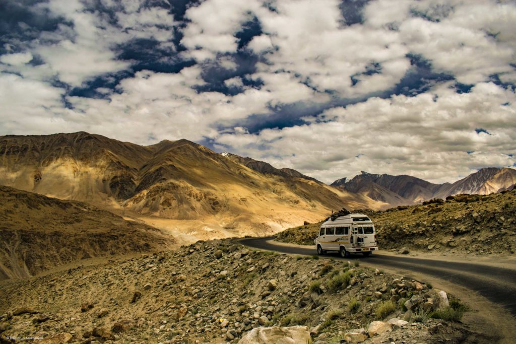
<path fill-rule="evenodd" d="M 70 261 L 173 248 L 156 228 L 77 201 L 0 186 L 0 280 Z"/>

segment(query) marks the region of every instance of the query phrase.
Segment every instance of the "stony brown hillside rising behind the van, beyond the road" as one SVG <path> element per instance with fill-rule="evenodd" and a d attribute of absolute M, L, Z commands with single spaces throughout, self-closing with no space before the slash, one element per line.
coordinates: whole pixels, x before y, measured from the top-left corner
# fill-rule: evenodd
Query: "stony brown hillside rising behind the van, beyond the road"
<path fill-rule="evenodd" d="M 516 190 L 456 195 L 422 205 L 365 211 L 375 223 L 381 249 L 513 254 L 516 251 Z M 279 241 L 313 244 L 321 222 L 291 228 Z"/>

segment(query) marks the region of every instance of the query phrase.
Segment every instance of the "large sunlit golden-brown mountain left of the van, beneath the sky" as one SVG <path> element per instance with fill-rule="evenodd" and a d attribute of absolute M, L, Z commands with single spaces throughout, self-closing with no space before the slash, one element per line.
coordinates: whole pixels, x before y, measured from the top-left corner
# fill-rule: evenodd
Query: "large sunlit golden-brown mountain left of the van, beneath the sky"
<path fill-rule="evenodd" d="M 271 234 L 343 206 L 385 206 L 289 173 L 252 170 L 188 140 L 139 146 L 88 133 L 0 137 L 0 184 L 202 239 Z"/>

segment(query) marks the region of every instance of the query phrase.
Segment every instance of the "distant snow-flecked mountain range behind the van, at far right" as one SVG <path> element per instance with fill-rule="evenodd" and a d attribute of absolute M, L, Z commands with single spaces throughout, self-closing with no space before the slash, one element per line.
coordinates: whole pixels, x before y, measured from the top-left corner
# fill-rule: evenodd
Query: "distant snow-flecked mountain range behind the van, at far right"
<path fill-rule="evenodd" d="M 515 169 L 489 167 L 455 183 L 433 184 L 409 175 L 393 176 L 362 171 L 350 181 L 346 181 L 346 178 L 338 179 L 331 186 L 397 206 L 417 204 L 432 198 L 445 199 L 461 193 L 490 194 L 510 190 L 514 184 Z"/>

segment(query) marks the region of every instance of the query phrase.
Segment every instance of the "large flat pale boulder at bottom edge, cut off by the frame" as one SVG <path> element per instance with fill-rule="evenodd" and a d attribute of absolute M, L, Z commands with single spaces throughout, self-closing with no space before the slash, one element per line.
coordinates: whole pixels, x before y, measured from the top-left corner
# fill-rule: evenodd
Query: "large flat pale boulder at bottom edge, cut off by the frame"
<path fill-rule="evenodd" d="M 247 333 L 238 344 L 298 344 L 310 341 L 307 326 L 256 327 Z"/>

